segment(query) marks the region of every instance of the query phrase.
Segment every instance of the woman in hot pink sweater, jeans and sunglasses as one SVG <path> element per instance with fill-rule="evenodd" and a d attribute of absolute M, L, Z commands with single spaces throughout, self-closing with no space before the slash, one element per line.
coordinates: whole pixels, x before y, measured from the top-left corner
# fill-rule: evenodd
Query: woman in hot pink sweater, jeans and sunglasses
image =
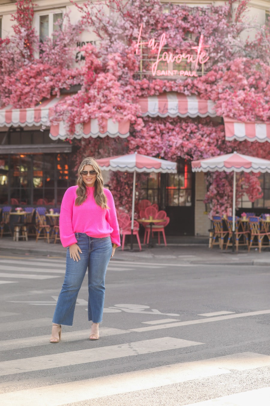
<path fill-rule="evenodd" d="M 61 324 L 72 326 L 79 289 L 88 267 L 88 320 L 90 340 L 99 339 L 108 262 L 120 246 L 113 196 L 103 189 L 103 178 L 94 158 L 85 158 L 78 169 L 77 186 L 66 190 L 60 212 L 60 239 L 66 254 L 66 275 L 53 316 L 51 343 L 61 339 Z"/>

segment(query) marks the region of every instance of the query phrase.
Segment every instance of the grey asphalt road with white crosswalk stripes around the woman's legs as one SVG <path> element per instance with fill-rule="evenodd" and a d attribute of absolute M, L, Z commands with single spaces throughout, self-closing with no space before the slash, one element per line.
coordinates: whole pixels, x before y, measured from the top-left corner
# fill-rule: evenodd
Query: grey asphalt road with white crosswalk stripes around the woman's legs
<path fill-rule="evenodd" d="M 63 256 L 0 255 L 1 405 L 269 405 L 269 266 L 113 259 L 100 339 L 87 279 L 50 344 Z"/>

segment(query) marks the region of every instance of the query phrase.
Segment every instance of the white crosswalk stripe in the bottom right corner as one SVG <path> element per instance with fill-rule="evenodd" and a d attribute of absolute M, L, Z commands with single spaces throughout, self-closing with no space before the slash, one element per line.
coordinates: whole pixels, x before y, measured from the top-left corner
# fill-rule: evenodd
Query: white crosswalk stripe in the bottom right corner
<path fill-rule="evenodd" d="M 270 387 L 253 389 L 253 391 L 234 393 L 215 399 L 205 400 L 204 402 L 186 404 L 184 406 L 269 406 Z"/>

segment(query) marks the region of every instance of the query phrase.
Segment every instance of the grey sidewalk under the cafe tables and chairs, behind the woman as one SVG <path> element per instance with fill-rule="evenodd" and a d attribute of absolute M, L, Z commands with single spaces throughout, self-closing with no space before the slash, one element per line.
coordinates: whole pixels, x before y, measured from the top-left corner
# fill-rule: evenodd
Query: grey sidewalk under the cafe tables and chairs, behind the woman
<path fill-rule="evenodd" d="M 155 240 L 154 240 L 155 243 Z M 168 237 L 168 245 L 160 246 L 155 244 L 153 248 L 142 246 L 139 251 L 138 245 L 133 245 L 133 251 L 130 251 L 130 245 L 126 244 L 124 251 L 117 248 L 113 260 L 119 261 L 140 261 L 144 262 L 153 259 L 157 263 L 179 263 L 185 264 L 209 264 L 209 265 L 227 265 L 227 266 L 270 266 L 270 247 L 259 250 L 252 248 L 250 252 L 246 248 L 240 247 L 238 253 L 232 252 L 232 247 L 227 251 L 221 251 L 218 246 L 212 249 L 208 248 L 207 237 Z M 66 248 L 60 242 L 57 244 L 48 244 L 44 240 L 36 242 L 33 239 L 28 241 L 13 241 L 11 237 L 0 239 L 0 255 L 38 255 L 49 257 L 66 257 Z"/>

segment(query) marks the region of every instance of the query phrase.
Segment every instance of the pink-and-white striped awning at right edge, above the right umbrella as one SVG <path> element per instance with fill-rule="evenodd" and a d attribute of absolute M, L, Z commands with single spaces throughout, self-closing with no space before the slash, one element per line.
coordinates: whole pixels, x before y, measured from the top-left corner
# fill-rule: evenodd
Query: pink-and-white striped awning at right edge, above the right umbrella
<path fill-rule="evenodd" d="M 227 141 L 259 141 L 270 143 L 270 123 L 237 121 L 229 117 L 223 117 L 225 125 L 225 139 Z"/>

